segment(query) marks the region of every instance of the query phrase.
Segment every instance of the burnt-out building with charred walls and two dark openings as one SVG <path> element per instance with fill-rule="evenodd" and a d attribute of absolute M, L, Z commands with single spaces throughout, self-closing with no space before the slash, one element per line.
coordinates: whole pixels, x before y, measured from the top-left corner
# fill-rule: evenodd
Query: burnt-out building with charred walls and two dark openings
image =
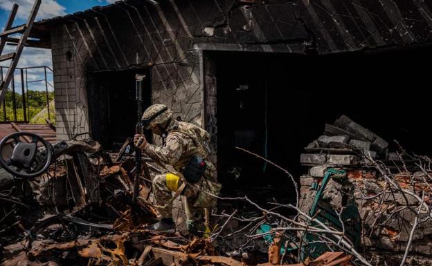
<path fill-rule="evenodd" d="M 177 119 L 211 133 L 226 191 L 262 202 L 296 199 L 286 175 L 239 146 L 301 175 L 300 207 L 309 211 L 330 168 L 345 171 L 355 193 L 386 196 L 377 173 L 363 169 L 370 167 L 364 155 L 397 160 L 393 140 L 431 153 L 424 89 L 431 8 L 415 0 L 125 0 L 39 21 L 31 37 L 52 50 L 59 140 L 89 133 L 118 151 L 134 135 L 134 77 L 144 74 L 143 107 L 166 104 Z M 350 118 L 334 123 L 343 114 Z M 327 189 L 325 199 L 341 205 L 340 184 L 330 180 Z M 375 210 L 370 204 L 357 202 L 362 219 Z M 429 258 L 420 239 L 429 226 L 422 226 L 413 250 Z M 372 229 L 362 245 L 402 256 L 409 227 Z"/>

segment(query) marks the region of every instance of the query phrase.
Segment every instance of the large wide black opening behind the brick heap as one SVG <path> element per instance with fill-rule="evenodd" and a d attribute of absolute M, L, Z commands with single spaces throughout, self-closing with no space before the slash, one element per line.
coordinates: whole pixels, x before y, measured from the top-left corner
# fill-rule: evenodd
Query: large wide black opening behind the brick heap
<path fill-rule="evenodd" d="M 340 115 L 383 137 L 393 151 L 393 140 L 398 140 L 409 151 L 431 153 L 430 79 L 424 67 L 431 51 L 208 53 L 217 76 L 219 179 L 228 189 L 273 187 L 294 195 L 287 175 L 235 146 L 268 158 L 298 178 L 307 173 L 300 166 L 300 153 L 323 134 L 325 123 Z"/>

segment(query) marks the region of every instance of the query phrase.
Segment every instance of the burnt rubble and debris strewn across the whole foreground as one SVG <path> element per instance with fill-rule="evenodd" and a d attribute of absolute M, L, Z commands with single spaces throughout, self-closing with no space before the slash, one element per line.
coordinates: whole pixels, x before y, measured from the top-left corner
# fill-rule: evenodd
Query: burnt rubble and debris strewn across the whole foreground
<path fill-rule="evenodd" d="M 174 202 L 176 231 L 147 228 L 157 219 L 152 180 L 138 175 L 134 203 L 139 172 L 129 145 L 108 153 L 93 140 L 61 141 L 43 175 L 1 175 L 1 265 L 429 263 L 431 159 L 390 151 L 388 142 L 346 116 L 305 147 L 300 160 L 308 171 L 300 176 L 296 203 L 268 191 L 222 195 L 219 209 L 207 210 L 206 229 L 194 235 L 185 229 L 181 200 Z M 277 164 L 239 150 L 294 180 Z M 165 171 L 141 160 L 150 176 Z M 255 201 L 264 197 L 267 203 Z"/>

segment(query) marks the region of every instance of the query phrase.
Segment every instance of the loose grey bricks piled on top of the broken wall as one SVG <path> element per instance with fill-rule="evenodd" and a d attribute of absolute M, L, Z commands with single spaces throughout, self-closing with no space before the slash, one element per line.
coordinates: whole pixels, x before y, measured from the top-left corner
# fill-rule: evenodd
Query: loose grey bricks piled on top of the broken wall
<path fill-rule="evenodd" d="M 325 124 L 324 134 L 300 155 L 300 163 L 312 167 L 311 175 L 322 177 L 322 167 L 355 166 L 362 164 L 363 155 L 374 159 L 398 160 L 395 153 L 388 153 L 388 142 L 369 129 L 342 115 L 333 125 Z"/>

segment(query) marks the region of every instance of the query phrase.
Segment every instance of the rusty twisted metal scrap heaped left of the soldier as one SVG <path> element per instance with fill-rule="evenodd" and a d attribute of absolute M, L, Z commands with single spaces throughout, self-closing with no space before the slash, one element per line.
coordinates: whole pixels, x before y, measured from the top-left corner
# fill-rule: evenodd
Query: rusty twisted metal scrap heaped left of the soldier
<path fill-rule="evenodd" d="M 0 266 L 282 263 L 279 234 L 268 247 L 268 262 L 262 263 L 264 257 L 255 263 L 220 256 L 212 238 L 148 231 L 147 225 L 156 221 L 156 210 L 148 200 L 151 187 L 145 183 L 150 180 L 148 170 L 143 167 L 145 178 L 140 179 L 140 194 L 132 203 L 133 160 L 112 162 L 97 142 L 72 141 L 63 146 L 48 173 L 30 180 L 30 196 L 1 194 L 15 209 L 0 220 L 2 226 L 7 225 L 0 230 Z M 33 197 L 36 208 L 24 204 Z M 349 256 L 330 255 L 298 266 L 349 265 Z"/>

